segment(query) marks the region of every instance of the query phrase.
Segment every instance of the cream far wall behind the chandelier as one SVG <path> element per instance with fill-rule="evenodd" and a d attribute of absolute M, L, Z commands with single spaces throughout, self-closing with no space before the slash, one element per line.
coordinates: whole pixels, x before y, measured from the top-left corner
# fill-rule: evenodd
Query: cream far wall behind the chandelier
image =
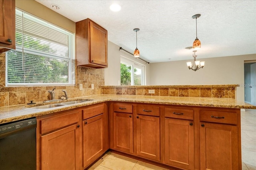
<path fill-rule="evenodd" d="M 200 59 L 205 66 L 196 72 L 188 69 L 188 60 L 151 63 L 147 85 L 241 84 L 236 100 L 244 101 L 244 61 L 249 60 L 256 60 L 256 54 Z"/>

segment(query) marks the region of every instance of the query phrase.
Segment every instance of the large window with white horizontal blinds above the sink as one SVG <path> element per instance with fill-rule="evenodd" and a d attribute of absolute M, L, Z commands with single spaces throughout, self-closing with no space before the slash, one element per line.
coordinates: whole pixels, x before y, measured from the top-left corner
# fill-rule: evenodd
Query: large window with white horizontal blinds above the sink
<path fill-rule="evenodd" d="M 16 9 L 16 50 L 6 53 L 7 86 L 74 85 L 74 33 Z"/>

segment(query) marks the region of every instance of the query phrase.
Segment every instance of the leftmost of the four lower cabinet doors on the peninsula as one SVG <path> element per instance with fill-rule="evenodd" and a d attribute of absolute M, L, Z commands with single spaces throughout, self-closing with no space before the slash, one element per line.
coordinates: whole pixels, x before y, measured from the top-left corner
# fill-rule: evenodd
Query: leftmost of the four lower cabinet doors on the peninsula
<path fill-rule="evenodd" d="M 114 112 L 114 149 L 133 153 L 132 114 Z"/>

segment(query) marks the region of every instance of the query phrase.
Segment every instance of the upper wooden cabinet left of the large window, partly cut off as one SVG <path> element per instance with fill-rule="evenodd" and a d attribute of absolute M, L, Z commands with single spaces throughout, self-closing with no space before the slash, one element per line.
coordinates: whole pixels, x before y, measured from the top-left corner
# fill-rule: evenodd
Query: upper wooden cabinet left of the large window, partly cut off
<path fill-rule="evenodd" d="M 15 0 L 0 0 L 0 53 L 15 49 Z"/>

